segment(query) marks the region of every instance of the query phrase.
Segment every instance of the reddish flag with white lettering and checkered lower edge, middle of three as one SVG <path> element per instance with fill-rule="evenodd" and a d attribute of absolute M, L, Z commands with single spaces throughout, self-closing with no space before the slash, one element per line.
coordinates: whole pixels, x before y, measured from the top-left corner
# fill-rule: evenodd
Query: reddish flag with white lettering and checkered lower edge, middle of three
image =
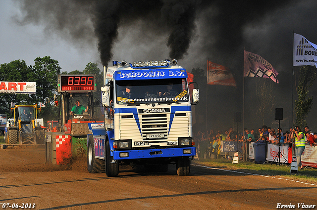
<path fill-rule="evenodd" d="M 277 71 L 260 55 L 244 50 L 244 77 L 270 78 L 278 83 Z"/>

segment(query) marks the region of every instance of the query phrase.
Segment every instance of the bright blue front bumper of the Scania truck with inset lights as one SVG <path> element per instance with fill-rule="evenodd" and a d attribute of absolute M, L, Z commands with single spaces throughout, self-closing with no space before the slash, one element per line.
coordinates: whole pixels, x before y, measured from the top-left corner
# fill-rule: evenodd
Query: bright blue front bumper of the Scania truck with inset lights
<path fill-rule="evenodd" d="M 184 150 L 187 152 L 184 154 Z M 190 153 L 189 153 L 190 152 Z M 128 157 L 120 157 L 123 153 Z M 146 149 L 146 150 L 124 150 L 113 151 L 113 160 L 127 160 L 127 159 L 140 159 L 140 158 L 169 158 L 169 157 L 184 157 L 195 156 L 196 147 L 181 147 L 181 148 L 168 148 L 168 149 Z"/>

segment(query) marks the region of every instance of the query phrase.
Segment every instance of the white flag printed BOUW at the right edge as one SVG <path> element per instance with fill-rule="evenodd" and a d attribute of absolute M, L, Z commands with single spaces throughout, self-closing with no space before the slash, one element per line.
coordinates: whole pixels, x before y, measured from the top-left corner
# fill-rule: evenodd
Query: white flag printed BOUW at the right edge
<path fill-rule="evenodd" d="M 316 66 L 317 45 L 294 33 L 293 66 Z"/>

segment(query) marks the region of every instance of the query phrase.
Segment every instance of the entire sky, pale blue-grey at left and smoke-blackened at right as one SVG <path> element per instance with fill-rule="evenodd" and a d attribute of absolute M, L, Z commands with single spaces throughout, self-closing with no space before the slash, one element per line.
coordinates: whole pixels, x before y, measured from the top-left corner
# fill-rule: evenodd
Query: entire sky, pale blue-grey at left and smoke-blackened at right
<path fill-rule="evenodd" d="M 198 67 L 206 70 L 210 60 L 228 67 L 237 81 L 234 90 L 210 87 L 213 97 L 227 95 L 219 99 L 222 108 L 214 106 L 218 113 L 226 103 L 237 104 L 230 108 L 232 112 L 241 110 L 244 49 L 262 56 L 279 73 L 280 83 L 274 86 L 280 102 L 277 105 L 290 112 L 285 99 L 291 97 L 293 32 L 317 43 L 316 0 L 0 3 L 0 64 L 25 60 L 27 65 L 34 65 L 35 58 L 51 56 L 59 62 L 61 71 L 70 72 L 82 71 L 89 62 L 98 63 L 102 69 L 112 60 L 177 59 L 191 72 Z M 255 90 L 251 78 L 245 85 L 246 91 Z M 252 97 L 250 100 L 254 100 Z M 315 107 L 312 116 L 317 117 Z"/>

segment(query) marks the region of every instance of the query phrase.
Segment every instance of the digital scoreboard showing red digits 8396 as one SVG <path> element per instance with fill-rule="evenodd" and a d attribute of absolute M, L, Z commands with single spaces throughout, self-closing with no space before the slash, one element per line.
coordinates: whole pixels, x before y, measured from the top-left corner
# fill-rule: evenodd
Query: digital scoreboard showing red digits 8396
<path fill-rule="evenodd" d="M 95 92 L 96 75 L 58 75 L 58 92 Z"/>

